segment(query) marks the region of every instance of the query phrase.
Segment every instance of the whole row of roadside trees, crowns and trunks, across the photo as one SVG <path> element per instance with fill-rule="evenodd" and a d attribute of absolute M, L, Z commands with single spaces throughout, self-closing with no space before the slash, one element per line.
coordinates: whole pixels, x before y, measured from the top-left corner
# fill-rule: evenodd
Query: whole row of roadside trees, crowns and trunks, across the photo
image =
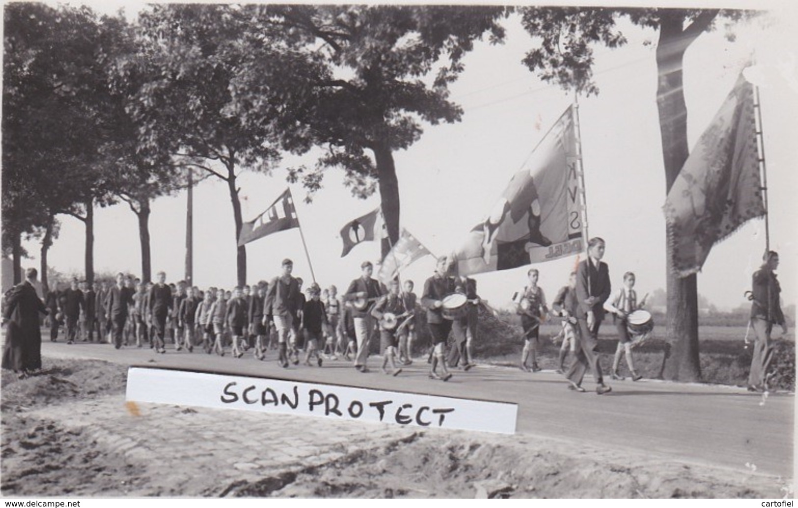
<path fill-rule="evenodd" d="M 289 170 L 311 195 L 329 168 L 354 195 L 379 191 L 389 237 L 399 236 L 393 153 L 422 125 L 464 114 L 448 85 L 480 40 L 504 40 L 520 17 L 534 45 L 523 65 L 577 93 L 598 93 L 593 48 L 626 39 L 620 18 L 658 30 L 658 106 L 667 189 L 688 156 L 681 91 L 685 49 L 717 10 L 518 9 L 500 6 L 156 5 L 135 23 L 87 7 L 5 6 L 2 246 L 20 278 L 22 238 L 41 238 L 42 274 L 59 215 L 85 222 L 93 280 L 93 211 L 118 201 L 138 216 L 142 276 L 150 278 L 150 203 L 186 186 L 190 171 L 227 183 L 237 241 L 239 171 L 269 173 L 286 153 L 322 149 Z M 246 247 L 237 247 L 239 284 Z M 46 285 L 46 281 L 43 281 Z M 667 374 L 700 376 L 697 288 L 668 278 Z"/>

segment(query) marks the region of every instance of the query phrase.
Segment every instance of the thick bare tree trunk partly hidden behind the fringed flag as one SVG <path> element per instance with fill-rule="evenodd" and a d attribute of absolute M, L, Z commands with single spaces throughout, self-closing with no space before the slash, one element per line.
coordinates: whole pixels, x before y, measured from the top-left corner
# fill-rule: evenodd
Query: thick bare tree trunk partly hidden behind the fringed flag
<path fill-rule="evenodd" d="M 687 144 L 687 108 L 682 92 L 682 57 L 689 45 L 682 33 L 684 14 L 663 15 L 657 47 L 657 106 L 662 159 L 665 163 L 666 194 L 673 186 L 681 167 L 689 156 Z M 670 238 L 670 226 L 666 226 Z M 666 242 L 667 321 L 666 357 L 663 376 L 667 380 L 697 381 L 701 379 L 698 357 L 698 297 L 695 274 L 678 278 L 673 270 L 673 246 Z"/>

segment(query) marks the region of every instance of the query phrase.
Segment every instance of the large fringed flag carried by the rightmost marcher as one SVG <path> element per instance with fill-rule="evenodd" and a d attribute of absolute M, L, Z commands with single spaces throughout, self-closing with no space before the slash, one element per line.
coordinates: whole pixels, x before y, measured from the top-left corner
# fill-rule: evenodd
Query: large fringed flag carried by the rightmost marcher
<path fill-rule="evenodd" d="M 679 277 L 700 271 L 715 243 L 764 215 L 753 86 L 744 77 L 693 147 L 663 210 Z"/>

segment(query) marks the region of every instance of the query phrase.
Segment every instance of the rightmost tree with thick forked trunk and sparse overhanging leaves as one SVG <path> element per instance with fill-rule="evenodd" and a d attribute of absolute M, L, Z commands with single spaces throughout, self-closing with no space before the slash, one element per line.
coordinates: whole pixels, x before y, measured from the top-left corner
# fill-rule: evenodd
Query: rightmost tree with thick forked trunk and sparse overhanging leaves
<path fill-rule="evenodd" d="M 689 155 L 687 108 L 682 89 L 685 51 L 697 37 L 712 30 L 717 18 L 737 20 L 748 15 L 733 10 L 593 9 L 525 7 L 520 10 L 524 28 L 542 44 L 527 53 L 523 63 L 545 81 L 579 93 L 598 93 L 592 81 L 592 45 L 610 48 L 626 43 L 618 18 L 658 30 L 657 107 L 665 166 L 666 195 Z M 666 226 L 667 229 L 667 226 Z M 670 231 L 666 231 L 666 235 Z M 673 251 L 667 245 L 667 330 L 664 376 L 669 380 L 700 380 L 698 357 L 698 300 L 695 274 L 678 278 L 673 270 Z"/>

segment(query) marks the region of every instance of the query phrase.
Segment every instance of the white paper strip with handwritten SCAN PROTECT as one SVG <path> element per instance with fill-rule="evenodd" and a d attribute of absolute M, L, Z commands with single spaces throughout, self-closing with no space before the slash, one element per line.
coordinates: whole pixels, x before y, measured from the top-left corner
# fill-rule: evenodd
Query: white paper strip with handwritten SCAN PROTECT
<path fill-rule="evenodd" d="M 158 368 L 128 370 L 127 400 L 201 408 L 356 419 L 515 434 L 517 404 L 223 376 Z"/>

